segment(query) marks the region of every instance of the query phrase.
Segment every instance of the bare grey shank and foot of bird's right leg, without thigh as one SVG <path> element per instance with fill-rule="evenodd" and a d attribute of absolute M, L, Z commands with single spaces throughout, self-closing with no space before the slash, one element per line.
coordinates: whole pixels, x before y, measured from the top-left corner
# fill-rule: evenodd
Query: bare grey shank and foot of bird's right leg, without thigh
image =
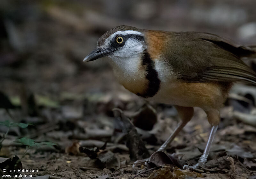
<path fill-rule="evenodd" d="M 213 142 L 213 139 L 214 139 L 214 136 L 216 134 L 217 129 L 218 129 L 217 125 L 212 126 L 212 129 L 211 129 L 211 132 L 210 132 L 210 136 L 208 138 L 206 147 L 204 149 L 204 153 L 199 158 L 198 163 L 196 165 L 192 166 L 192 168 L 201 167 L 207 161 L 207 158 L 208 158 L 208 155 L 209 155 L 209 152 L 210 152 L 210 148 L 211 148 L 211 145 L 212 145 L 212 142 Z M 189 166 L 188 165 L 184 165 L 183 169 L 187 169 L 187 168 L 189 168 Z"/>

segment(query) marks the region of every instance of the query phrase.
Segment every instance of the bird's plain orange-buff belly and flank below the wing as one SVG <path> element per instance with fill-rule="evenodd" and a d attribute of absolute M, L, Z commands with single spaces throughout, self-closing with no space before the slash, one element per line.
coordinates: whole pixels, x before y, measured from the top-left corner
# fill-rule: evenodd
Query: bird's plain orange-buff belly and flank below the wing
<path fill-rule="evenodd" d="M 170 105 L 201 107 L 205 110 L 220 108 L 225 102 L 225 95 L 218 83 L 161 83 L 155 96 L 145 98 L 149 101 Z"/>

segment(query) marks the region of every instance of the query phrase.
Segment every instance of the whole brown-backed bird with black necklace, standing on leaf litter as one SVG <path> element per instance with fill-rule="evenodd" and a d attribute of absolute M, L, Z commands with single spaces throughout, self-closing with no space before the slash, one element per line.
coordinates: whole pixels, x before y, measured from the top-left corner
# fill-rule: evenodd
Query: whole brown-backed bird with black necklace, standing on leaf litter
<path fill-rule="evenodd" d="M 207 161 L 220 123 L 220 109 L 235 82 L 256 85 L 256 74 L 241 58 L 256 58 L 256 46 L 242 46 L 218 35 L 117 26 L 104 33 L 83 61 L 108 57 L 116 79 L 137 96 L 173 105 L 180 117 L 164 151 L 191 120 L 194 107 L 207 114 L 211 131 L 198 163 Z"/>

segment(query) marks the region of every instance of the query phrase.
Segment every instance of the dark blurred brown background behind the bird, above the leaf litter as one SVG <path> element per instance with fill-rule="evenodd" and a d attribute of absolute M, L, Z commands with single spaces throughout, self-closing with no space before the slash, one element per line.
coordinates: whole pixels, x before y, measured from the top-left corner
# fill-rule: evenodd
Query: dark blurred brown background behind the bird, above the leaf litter
<path fill-rule="evenodd" d="M 0 89 L 43 96 L 122 90 L 105 60 L 83 63 L 110 28 L 199 31 L 256 43 L 255 0 L 0 2 Z M 124 90 L 125 92 L 125 90 Z"/>

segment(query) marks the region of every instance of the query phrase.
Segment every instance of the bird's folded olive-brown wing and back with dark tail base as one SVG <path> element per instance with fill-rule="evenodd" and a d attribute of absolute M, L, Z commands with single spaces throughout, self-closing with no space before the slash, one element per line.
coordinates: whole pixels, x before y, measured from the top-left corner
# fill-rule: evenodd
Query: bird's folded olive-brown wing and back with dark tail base
<path fill-rule="evenodd" d="M 250 47 L 207 33 L 171 33 L 165 49 L 179 79 L 187 82 L 236 82 L 256 85 L 256 74 L 240 58 L 256 57 Z"/>

